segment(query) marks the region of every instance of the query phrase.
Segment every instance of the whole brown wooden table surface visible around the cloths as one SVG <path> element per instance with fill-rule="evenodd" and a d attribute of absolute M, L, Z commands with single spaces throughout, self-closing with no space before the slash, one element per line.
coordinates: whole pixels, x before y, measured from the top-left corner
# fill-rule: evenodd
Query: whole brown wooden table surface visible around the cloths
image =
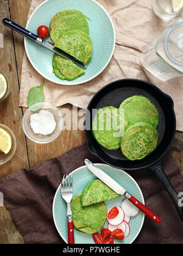
<path fill-rule="evenodd" d="M 3 48 L 0 42 L 0 72 L 9 78 L 12 87 L 9 98 L 0 104 L 0 123 L 9 126 L 17 140 L 15 155 L 0 167 L 0 178 L 21 168 L 35 167 L 42 161 L 62 155 L 63 152 L 86 141 L 84 132 L 80 130 L 63 131 L 56 141 L 46 145 L 35 144 L 24 136 L 21 122 L 26 109 L 18 107 L 24 54 L 23 36 L 3 26 L 1 21 L 3 18 L 10 18 L 25 27 L 30 2 L 31 0 L 0 0 L 0 33 L 4 40 Z M 72 106 L 67 104 L 64 108 L 72 109 Z M 183 133 L 177 131 L 170 150 L 183 174 L 182 148 Z M 5 207 L 0 207 L 0 243 L 24 243 L 11 214 Z"/>

